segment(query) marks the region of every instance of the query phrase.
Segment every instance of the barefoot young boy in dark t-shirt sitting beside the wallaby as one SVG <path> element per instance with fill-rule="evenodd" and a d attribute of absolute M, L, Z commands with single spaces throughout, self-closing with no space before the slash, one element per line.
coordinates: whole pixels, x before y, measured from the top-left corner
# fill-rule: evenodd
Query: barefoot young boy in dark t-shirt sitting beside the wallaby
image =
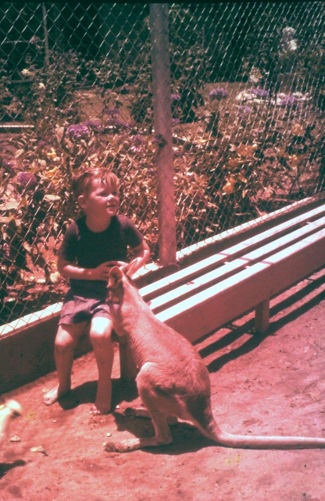
<path fill-rule="evenodd" d="M 131 277 L 149 257 L 149 247 L 132 221 L 117 215 L 119 207 L 117 177 L 101 167 L 86 170 L 72 181 L 72 192 L 84 216 L 67 228 L 59 249 L 57 269 L 70 279 L 54 343 L 58 385 L 44 395 L 51 405 L 71 388 L 73 351 L 90 322 L 90 341 L 98 369 L 95 414 L 110 409 L 113 349 L 112 324 L 106 305 L 109 269 L 119 266 Z M 127 246 L 133 259 L 126 261 Z"/>

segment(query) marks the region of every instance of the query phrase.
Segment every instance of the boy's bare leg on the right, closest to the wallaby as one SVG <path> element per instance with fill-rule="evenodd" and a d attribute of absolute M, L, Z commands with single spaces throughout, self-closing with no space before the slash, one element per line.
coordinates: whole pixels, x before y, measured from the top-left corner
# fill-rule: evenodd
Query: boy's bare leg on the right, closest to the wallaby
<path fill-rule="evenodd" d="M 106 414 L 111 406 L 111 370 L 114 351 L 110 339 L 111 321 L 105 317 L 94 317 L 90 324 L 90 341 L 98 369 L 97 393 L 92 412 Z"/>

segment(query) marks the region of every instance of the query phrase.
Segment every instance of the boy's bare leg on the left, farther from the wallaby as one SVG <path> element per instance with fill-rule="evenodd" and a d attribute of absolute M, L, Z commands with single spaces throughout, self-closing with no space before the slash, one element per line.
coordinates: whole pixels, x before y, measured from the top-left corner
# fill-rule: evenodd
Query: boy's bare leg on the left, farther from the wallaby
<path fill-rule="evenodd" d="M 54 342 L 54 360 L 58 385 L 45 393 L 43 398 L 45 405 L 53 404 L 70 391 L 73 352 L 85 325 L 86 322 L 58 326 Z"/>

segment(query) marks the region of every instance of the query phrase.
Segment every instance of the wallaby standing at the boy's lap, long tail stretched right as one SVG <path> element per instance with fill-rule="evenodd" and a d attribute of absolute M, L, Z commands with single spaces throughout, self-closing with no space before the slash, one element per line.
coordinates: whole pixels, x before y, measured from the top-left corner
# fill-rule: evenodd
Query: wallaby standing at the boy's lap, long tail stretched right
<path fill-rule="evenodd" d="M 106 443 L 105 450 L 126 452 L 172 441 L 168 418 L 190 421 L 214 442 L 237 448 L 293 449 L 325 447 L 325 438 L 246 436 L 221 431 L 211 409 L 208 371 L 194 347 L 160 322 L 123 272 L 113 267 L 108 280 L 107 304 L 113 329 L 126 336 L 139 369 L 136 386 L 143 405 L 135 415 L 151 417 L 152 438 L 130 438 Z"/>

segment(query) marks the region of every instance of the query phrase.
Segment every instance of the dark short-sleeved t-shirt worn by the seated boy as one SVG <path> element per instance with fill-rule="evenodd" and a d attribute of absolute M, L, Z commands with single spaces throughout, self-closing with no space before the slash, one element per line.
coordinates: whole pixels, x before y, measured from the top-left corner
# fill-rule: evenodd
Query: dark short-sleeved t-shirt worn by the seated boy
<path fill-rule="evenodd" d="M 143 235 L 126 216 L 113 216 L 108 228 L 98 233 L 87 227 L 83 216 L 67 228 L 58 255 L 82 268 L 96 268 L 106 261 L 126 261 L 127 246 L 136 247 L 142 240 Z M 71 291 L 77 296 L 105 295 L 106 287 L 102 280 L 70 279 Z"/>

